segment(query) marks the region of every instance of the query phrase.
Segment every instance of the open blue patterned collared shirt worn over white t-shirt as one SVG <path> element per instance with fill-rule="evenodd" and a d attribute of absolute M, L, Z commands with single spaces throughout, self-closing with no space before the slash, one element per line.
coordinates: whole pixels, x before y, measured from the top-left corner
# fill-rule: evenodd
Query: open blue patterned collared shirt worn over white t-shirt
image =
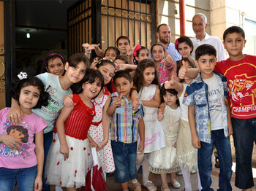
<path fill-rule="evenodd" d="M 217 84 L 221 91 L 222 121 L 227 137 L 227 79 L 222 74 L 216 74 Z M 200 74 L 190 82 L 184 95 L 183 104 L 195 105 L 195 127 L 200 141 L 211 143 L 211 117 L 208 105 L 208 85 L 203 82 Z"/>

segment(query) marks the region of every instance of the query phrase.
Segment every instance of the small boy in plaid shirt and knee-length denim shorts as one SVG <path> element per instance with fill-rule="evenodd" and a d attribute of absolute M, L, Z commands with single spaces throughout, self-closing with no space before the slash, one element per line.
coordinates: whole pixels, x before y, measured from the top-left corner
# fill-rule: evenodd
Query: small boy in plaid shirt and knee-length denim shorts
<path fill-rule="evenodd" d="M 128 190 L 128 182 L 131 183 L 131 180 L 138 176 L 136 169 L 137 152 L 143 153 L 144 149 L 144 112 L 141 103 L 139 109 L 132 109 L 132 100 L 129 94 L 133 82 L 129 72 L 117 71 L 113 81 L 118 96 L 113 98 L 107 113 L 112 116 L 110 135 L 116 167 L 115 181 L 121 183 L 122 190 Z M 137 149 L 138 133 L 140 144 Z"/>

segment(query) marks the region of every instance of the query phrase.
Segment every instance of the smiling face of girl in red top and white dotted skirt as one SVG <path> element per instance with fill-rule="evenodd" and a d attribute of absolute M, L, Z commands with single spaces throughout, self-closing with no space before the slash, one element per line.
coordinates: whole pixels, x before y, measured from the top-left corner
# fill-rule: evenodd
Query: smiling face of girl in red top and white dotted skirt
<path fill-rule="evenodd" d="M 93 83 L 83 83 L 83 95 L 91 100 L 92 98 L 98 95 L 99 91 L 101 90 L 101 87 L 102 84 L 99 81 L 99 78 L 97 78 Z"/>

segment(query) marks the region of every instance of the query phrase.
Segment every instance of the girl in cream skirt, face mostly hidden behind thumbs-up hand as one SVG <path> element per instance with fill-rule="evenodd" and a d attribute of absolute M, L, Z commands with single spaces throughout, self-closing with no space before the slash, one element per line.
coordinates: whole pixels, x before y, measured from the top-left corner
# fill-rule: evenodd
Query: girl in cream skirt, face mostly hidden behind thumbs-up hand
<path fill-rule="evenodd" d="M 179 63 L 179 69 L 181 67 L 195 68 L 194 60 L 191 57 L 182 58 Z M 182 80 L 183 81 L 183 80 Z M 192 185 L 190 182 L 190 172 L 197 170 L 197 149 L 192 146 L 191 133 L 189 128 L 188 119 L 188 107 L 182 104 L 184 93 L 186 87 L 192 79 L 185 78 L 184 82 L 176 82 L 176 80 L 171 79 L 169 82 L 165 83 L 165 88 L 174 88 L 178 92 L 178 99 L 181 104 L 181 119 L 178 127 L 178 137 L 177 137 L 177 152 L 176 158 L 178 165 L 181 167 L 182 176 L 185 182 L 185 190 L 192 190 Z M 198 177 L 198 190 L 201 190 L 200 178 Z"/>

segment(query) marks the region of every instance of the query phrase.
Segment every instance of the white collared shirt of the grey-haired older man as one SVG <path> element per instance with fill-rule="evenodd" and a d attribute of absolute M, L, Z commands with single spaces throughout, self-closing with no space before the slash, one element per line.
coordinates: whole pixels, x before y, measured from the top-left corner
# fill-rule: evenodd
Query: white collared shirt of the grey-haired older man
<path fill-rule="evenodd" d="M 211 46 L 214 46 L 215 49 L 217 50 L 217 61 L 224 61 L 226 60 L 226 54 L 224 47 L 222 46 L 222 42 L 217 36 L 210 36 L 206 33 L 205 38 L 200 41 L 200 39 L 197 39 L 195 36 L 194 39 L 191 39 L 193 43 L 193 52 L 192 52 L 192 58 L 195 58 L 195 50 L 197 47 L 199 47 L 202 44 L 211 44 Z"/>

